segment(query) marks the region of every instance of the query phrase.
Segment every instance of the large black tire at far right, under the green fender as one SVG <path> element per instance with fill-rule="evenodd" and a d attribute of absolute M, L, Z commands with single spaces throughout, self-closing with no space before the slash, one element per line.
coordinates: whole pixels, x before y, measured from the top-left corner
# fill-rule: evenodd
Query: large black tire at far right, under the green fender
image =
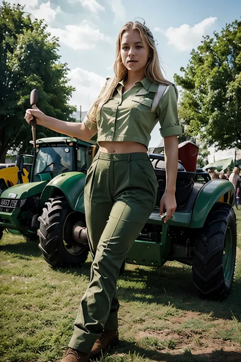
<path fill-rule="evenodd" d="M 194 240 L 193 281 L 204 299 L 223 299 L 231 291 L 236 259 L 236 218 L 233 208 L 218 203 Z"/>

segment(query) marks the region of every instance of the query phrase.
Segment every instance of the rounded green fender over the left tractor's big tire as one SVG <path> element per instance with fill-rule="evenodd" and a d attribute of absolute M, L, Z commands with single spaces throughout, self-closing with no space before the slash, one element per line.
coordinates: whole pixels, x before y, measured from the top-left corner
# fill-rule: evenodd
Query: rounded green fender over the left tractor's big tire
<path fill-rule="evenodd" d="M 82 172 L 67 172 L 54 177 L 41 194 L 40 209 L 52 196 L 64 194 L 73 210 L 84 213 L 84 184 L 85 174 Z"/>

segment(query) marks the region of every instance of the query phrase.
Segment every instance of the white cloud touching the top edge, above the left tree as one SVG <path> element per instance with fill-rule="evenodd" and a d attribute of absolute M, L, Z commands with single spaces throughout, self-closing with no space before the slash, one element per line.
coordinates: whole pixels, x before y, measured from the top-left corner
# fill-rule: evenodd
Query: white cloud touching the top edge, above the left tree
<path fill-rule="evenodd" d="M 47 23 L 50 23 L 55 19 L 57 13 L 61 11 L 58 6 L 55 9 L 51 8 L 50 1 L 39 5 L 39 0 L 8 0 L 10 4 L 25 5 L 24 11 L 31 13 L 37 19 L 44 19 Z"/>

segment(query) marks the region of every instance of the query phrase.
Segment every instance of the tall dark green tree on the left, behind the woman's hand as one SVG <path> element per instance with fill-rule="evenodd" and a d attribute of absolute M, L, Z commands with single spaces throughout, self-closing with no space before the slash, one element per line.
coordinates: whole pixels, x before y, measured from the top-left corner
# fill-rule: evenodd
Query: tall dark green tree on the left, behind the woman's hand
<path fill-rule="evenodd" d="M 24 7 L 0 5 L 0 162 L 7 151 L 29 151 L 31 127 L 23 119 L 29 94 L 37 88 L 38 107 L 49 116 L 74 121 L 68 101 L 75 90 L 67 86 L 67 64 L 60 63 L 58 39 L 50 37 L 43 20 L 31 20 Z M 37 137 L 55 132 L 37 126 Z"/>

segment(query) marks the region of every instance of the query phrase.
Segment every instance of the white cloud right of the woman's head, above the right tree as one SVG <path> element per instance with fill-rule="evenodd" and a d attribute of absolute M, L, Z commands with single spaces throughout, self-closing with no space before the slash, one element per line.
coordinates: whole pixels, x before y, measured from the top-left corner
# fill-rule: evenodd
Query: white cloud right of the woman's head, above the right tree
<path fill-rule="evenodd" d="M 183 24 L 179 27 L 170 26 L 166 32 L 159 27 L 155 31 L 164 33 L 168 39 L 168 44 L 174 45 L 178 50 L 192 50 L 200 44 L 202 36 L 206 35 L 207 29 L 213 25 L 217 17 L 209 17 L 194 26 Z"/>

